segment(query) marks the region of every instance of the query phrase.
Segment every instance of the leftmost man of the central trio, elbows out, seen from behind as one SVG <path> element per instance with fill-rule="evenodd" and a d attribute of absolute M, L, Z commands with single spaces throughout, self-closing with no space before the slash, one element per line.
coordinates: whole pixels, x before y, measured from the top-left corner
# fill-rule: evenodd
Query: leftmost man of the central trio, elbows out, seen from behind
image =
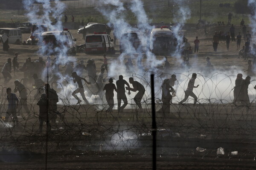
<path fill-rule="evenodd" d="M 113 84 L 112 78 L 110 78 L 108 82 L 109 83 L 104 86 L 103 91 L 106 91 L 105 95 L 106 95 L 106 100 L 109 106 L 107 111 L 112 112 L 114 107 L 114 90 L 117 92 L 117 89 L 116 89 L 116 85 Z"/>

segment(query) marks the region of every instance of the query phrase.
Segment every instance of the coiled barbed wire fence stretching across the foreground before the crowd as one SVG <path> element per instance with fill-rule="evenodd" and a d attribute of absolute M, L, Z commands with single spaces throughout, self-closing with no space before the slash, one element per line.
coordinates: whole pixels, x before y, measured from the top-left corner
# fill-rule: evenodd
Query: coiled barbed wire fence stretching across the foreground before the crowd
<path fill-rule="evenodd" d="M 151 89 L 150 81 L 147 74 L 133 74 L 145 89 Z M 176 74 L 188 76 L 183 74 Z M 182 156 L 184 151 L 187 154 L 183 156 L 211 156 L 216 148 L 216 143 L 223 143 L 227 152 L 233 150 L 241 151 L 240 158 L 246 157 L 249 153 L 256 153 L 253 147 L 255 142 L 256 131 L 256 115 L 253 102 L 255 98 L 251 98 L 249 107 L 244 105 L 235 105 L 233 100 L 233 76 L 225 75 L 225 84 L 228 92 L 222 96 L 222 86 L 218 84 L 212 77 L 224 74 L 212 74 L 211 76 L 200 75 L 197 81 L 202 85 L 201 90 L 197 89 L 197 94 L 204 96 L 199 98 L 197 105 L 192 105 L 192 99 L 188 100 L 185 105 L 177 104 L 180 98 L 174 97 L 170 114 L 164 114 L 160 108 L 161 89 L 160 86 L 155 88 L 156 96 L 156 121 L 157 121 L 157 153 L 163 155 Z M 158 84 L 162 84 L 163 79 L 171 77 L 170 74 L 155 74 Z M 199 77 L 199 75 L 198 75 Z M 88 77 L 85 77 L 88 78 Z M 106 77 L 108 80 L 110 77 Z M 127 79 L 124 77 L 124 79 Z M 228 79 L 228 81 L 227 81 Z M 66 81 L 66 82 L 64 82 Z M 72 104 L 71 92 L 74 89 L 70 85 L 71 80 L 63 77 L 58 82 L 51 85 L 58 85 L 58 111 L 64 115 L 64 119 L 59 116 L 56 119 L 57 127 L 52 127 L 48 132 L 48 152 L 56 150 L 75 151 L 76 153 L 84 153 L 86 151 L 129 151 L 130 153 L 140 153 L 142 155 L 151 153 L 151 94 L 147 90 L 143 96 L 143 112 L 139 112 L 133 102 L 132 96 L 128 94 L 128 105 L 124 112 L 119 113 L 116 109 L 113 112 L 107 111 L 105 95 L 96 92 L 93 85 L 87 85 L 85 89 L 88 95 L 94 97 L 93 105 L 75 105 Z M 186 86 L 182 85 L 180 80 L 175 85 L 176 90 L 185 90 Z M 252 80 L 251 82 L 253 82 Z M 209 86 L 213 85 L 213 89 Z M 26 150 L 31 152 L 44 153 L 46 151 L 46 125 L 43 132 L 39 133 L 39 108 L 34 99 L 34 94 L 38 89 L 29 92 L 27 104 L 29 113 L 22 108 L 18 114 L 18 122 L 14 118 L 7 121 L 5 114 L 7 111 L 6 87 L 0 86 L 0 146 L 5 150 Z M 205 89 L 210 91 L 210 96 L 205 94 Z M 227 91 L 226 90 L 226 91 Z M 178 91 L 177 91 L 178 92 Z M 183 93 L 183 92 L 182 92 Z M 255 93 L 249 89 L 249 93 Z M 211 97 L 214 94 L 214 97 Z M 19 96 L 17 94 L 17 96 Z M 115 105 L 116 98 L 114 98 Z M 160 111 L 158 111 L 160 110 Z M 217 142 L 216 142 L 217 141 Z M 249 141 L 249 142 L 248 142 Z M 231 144 L 230 144 L 231 142 Z M 243 145 L 247 143 L 246 146 Z M 196 147 L 207 147 L 204 152 L 197 152 Z M 220 146 L 221 147 L 221 146 Z M 125 153 L 126 154 L 126 153 Z M 216 154 L 216 153 L 215 153 Z M 230 154 L 228 154 L 230 156 Z M 254 155 L 253 155 L 254 156 Z"/>

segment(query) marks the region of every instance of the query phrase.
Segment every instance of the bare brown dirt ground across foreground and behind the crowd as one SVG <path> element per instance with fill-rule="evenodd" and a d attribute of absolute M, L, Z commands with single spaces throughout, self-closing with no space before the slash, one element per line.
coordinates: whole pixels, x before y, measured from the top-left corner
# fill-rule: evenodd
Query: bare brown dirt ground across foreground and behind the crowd
<path fill-rule="evenodd" d="M 237 30 L 241 29 L 236 27 Z M 227 28 L 211 28 L 225 29 Z M 70 30 L 74 37 L 77 38 L 77 45 L 83 43 L 81 34 L 77 34 L 77 30 Z M 196 34 L 195 34 L 196 32 Z M 217 71 L 227 71 L 233 66 L 236 66 L 239 70 L 247 69 L 247 60 L 238 58 L 238 51 L 236 50 L 236 42 L 230 42 L 230 50 L 227 51 L 224 41 L 220 41 L 218 45 L 218 51 L 213 52 L 212 48 L 212 35 L 207 37 L 203 36 L 201 31 L 187 31 L 186 37 L 193 47 L 193 41 L 195 36 L 199 37 L 200 48 L 199 52 L 190 55 L 190 64 L 194 64 L 198 72 L 203 71 L 206 65 L 205 57 L 211 58 L 211 63 Z M 29 34 L 23 34 L 23 41 L 29 37 Z M 113 37 L 113 36 L 112 36 Z M 244 45 L 244 41 L 241 42 L 241 46 Z M 119 57 L 119 46 L 116 45 L 116 54 L 108 54 L 108 62 L 111 63 Z M 240 47 L 241 48 L 241 47 Z M 18 62 L 20 66 L 25 62 L 27 57 L 31 57 L 32 61 L 38 59 L 37 46 L 29 45 L 10 45 L 8 52 L 0 51 L 0 69 L 3 68 L 7 58 L 13 58 L 16 52 L 19 53 Z M 77 53 L 76 59 L 79 61 L 83 59 L 87 62 L 88 59 L 95 59 L 96 71 L 100 72 L 100 66 L 103 63 L 102 55 L 86 55 L 83 53 Z M 157 59 L 162 59 L 163 56 L 157 56 Z M 46 57 L 44 57 L 46 60 Z M 175 72 L 175 68 L 179 67 L 177 57 L 169 56 L 169 62 L 171 63 L 172 71 Z M 136 61 L 133 61 L 136 65 Z M 196 64 L 195 64 L 196 63 Z M 61 69 L 61 71 L 64 71 Z M 202 72 L 204 74 L 204 72 Z M 16 75 L 12 74 L 12 80 L 9 82 L 8 87 L 14 88 L 15 79 L 23 78 L 23 72 L 18 72 Z M 106 76 L 106 74 L 105 74 Z M 117 78 L 117 77 L 116 77 Z M 254 79 L 254 78 L 253 78 Z M 0 76 L 0 85 L 3 85 L 3 76 Z M 32 87 L 28 87 L 32 90 Z M 1 92 L 1 114 L 3 113 L 3 105 L 5 99 L 5 89 L 0 89 Z M 59 106 L 60 108 L 62 106 Z M 255 137 L 252 135 L 239 136 L 234 138 L 225 136 L 219 130 L 217 135 L 222 136 L 222 140 L 213 140 L 211 138 L 197 138 L 193 136 L 194 128 L 204 131 L 207 128 L 214 130 L 225 128 L 225 130 L 232 129 L 234 119 L 226 127 L 223 127 L 225 123 L 219 122 L 218 127 L 216 121 L 212 120 L 213 124 L 202 124 L 203 118 L 195 116 L 203 115 L 209 109 L 209 112 L 214 115 L 214 106 L 206 108 L 204 106 L 198 106 L 191 111 L 188 108 L 173 106 L 171 111 L 175 118 L 169 116 L 167 119 L 160 119 L 158 127 L 169 127 L 170 129 L 186 129 L 187 133 L 173 136 L 175 131 L 169 133 L 167 137 L 158 136 L 157 139 L 157 169 L 159 170 L 254 170 L 255 165 Z M 220 108 L 220 107 L 219 107 Z M 222 106 L 221 109 L 232 110 L 233 106 Z M 38 107 L 33 103 L 33 109 L 38 110 Z M 198 111 L 199 109 L 200 111 Z M 178 110 L 178 111 L 177 111 Z M 211 111 L 210 111 L 211 110 Z M 221 110 L 220 115 L 222 117 L 218 120 L 226 120 L 225 111 Z M 177 112 L 176 112 L 177 111 Z M 207 110 L 208 111 L 208 110 Z M 123 115 L 120 115 L 116 111 L 113 113 L 106 113 L 96 111 L 95 106 L 69 106 L 67 109 L 65 119 L 67 122 L 62 122 L 58 127 L 64 127 L 64 130 L 56 130 L 50 132 L 48 135 L 44 132 L 38 134 L 37 129 L 39 122 L 37 116 L 26 115 L 24 121 L 20 121 L 20 125 L 14 128 L 0 128 L 1 146 L 6 150 L 0 152 L 0 169 L 3 170 L 41 170 L 46 168 L 46 140 L 48 140 L 48 155 L 47 155 L 47 169 L 49 170 L 74 170 L 74 169 L 100 169 L 100 170 L 148 170 L 152 167 L 152 155 L 151 155 L 151 136 L 139 136 L 139 144 L 135 142 L 131 144 L 132 147 L 126 147 L 125 149 L 109 149 L 105 146 L 108 142 L 103 144 L 103 148 L 100 147 L 99 141 L 111 141 L 105 133 L 108 131 L 115 131 L 115 127 L 122 129 L 122 126 L 128 127 L 132 125 L 137 127 L 138 133 L 142 134 L 145 130 L 150 129 L 151 126 L 151 108 L 147 108 L 144 115 L 136 116 L 134 109 L 127 109 Z M 191 114 L 191 116 L 184 116 L 183 113 Z M 236 115 L 239 115 L 237 111 Z M 241 133 L 246 133 L 247 129 L 250 129 L 255 123 L 254 111 L 244 114 L 246 118 L 236 119 L 236 123 L 241 123 L 241 129 L 244 130 Z M 184 116 L 182 118 L 182 116 Z M 249 116 L 249 117 L 248 117 Z M 177 121 L 177 117 L 181 117 L 182 121 Z M 196 118 L 196 119 L 195 119 Z M 23 118 L 19 118 L 20 120 Z M 60 119 L 58 119 L 60 121 Z M 184 122 L 185 123 L 184 123 Z M 250 124 L 248 125 L 248 122 Z M 1 122 L 4 122 L 1 120 Z M 204 126 L 205 125 L 205 126 Z M 208 126 L 209 125 L 209 126 Z M 240 124 L 239 124 L 240 125 Z M 6 130 L 7 129 L 7 130 Z M 81 135 L 81 132 L 85 130 L 91 130 L 91 136 Z M 111 130 L 110 130 L 111 129 Z M 238 130 L 241 130 L 238 129 Z M 17 130 L 14 131 L 14 130 Z M 189 131 L 191 130 L 191 131 Z M 235 129 L 233 129 L 235 130 Z M 206 130 L 207 131 L 207 130 Z M 217 130 L 218 131 L 218 130 Z M 250 130 L 248 130 L 250 131 Z M 86 131 L 87 132 L 87 131 Z M 20 135 L 15 135 L 15 133 Z M 192 137 L 186 136 L 191 133 Z M 95 134 L 95 135 L 94 135 Z M 170 135 L 172 134 L 172 135 Z M 186 135 L 185 135 L 186 134 Z M 230 133 L 229 133 L 230 134 Z M 247 133 L 246 133 L 247 134 Z M 89 137 L 90 136 L 90 137 Z M 102 137 L 102 136 L 105 136 Z M 224 137 L 223 137 L 224 136 Z M 102 139 L 104 138 L 104 139 Z M 247 139 L 249 138 L 249 139 Z M 95 140 L 95 143 L 93 142 Z M 126 143 L 127 144 L 127 143 Z M 125 144 L 125 145 L 126 145 Z M 196 151 L 196 147 L 207 148 L 204 152 Z M 216 151 L 218 147 L 225 148 L 225 154 L 217 156 Z M 8 151 L 7 151 L 8 150 Z M 232 151 L 238 150 L 238 156 L 230 155 Z"/>

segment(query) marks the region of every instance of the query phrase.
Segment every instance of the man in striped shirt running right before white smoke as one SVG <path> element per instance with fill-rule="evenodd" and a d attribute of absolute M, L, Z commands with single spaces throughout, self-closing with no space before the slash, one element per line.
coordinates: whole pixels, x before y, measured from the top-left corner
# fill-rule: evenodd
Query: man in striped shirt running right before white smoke
<path fill-rule="evenodd" d="M 199 85 L 195 85 L 195 79 L 197 77 L 197 74 L 193 73 L 192 78 L 189 80 L 188 87 L 185 91 L 185 98 L 179 102 L 179 104 L 182 104 L 183 102 L 186 102 L 186 100 L 189 98 L 189 96 L 194 98 L 194 105 L 196 104 L 198 97 L 193 93 L 194 88 L 198 88 Z"/>

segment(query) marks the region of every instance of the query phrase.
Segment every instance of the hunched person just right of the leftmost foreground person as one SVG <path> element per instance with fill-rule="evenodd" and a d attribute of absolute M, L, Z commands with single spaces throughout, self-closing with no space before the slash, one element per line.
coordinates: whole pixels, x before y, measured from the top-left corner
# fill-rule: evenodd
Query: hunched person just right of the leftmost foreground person
<path fill-rule="evenodd" d="M 20 93 L 20 102 L 17 105 L 18 106 L 18 112 L 21 110 L 22 106 L 24 107 L 26 113 L 29 113 L 29 108 L 27 105 L 27 89 L 25 88 L 25 86 L 19 82 L 19 80 L 15 80 L 14 81 L 15 84 L 15 89 L 14 89 L 14 93 L 16 93 L 17 91 Z"/>

